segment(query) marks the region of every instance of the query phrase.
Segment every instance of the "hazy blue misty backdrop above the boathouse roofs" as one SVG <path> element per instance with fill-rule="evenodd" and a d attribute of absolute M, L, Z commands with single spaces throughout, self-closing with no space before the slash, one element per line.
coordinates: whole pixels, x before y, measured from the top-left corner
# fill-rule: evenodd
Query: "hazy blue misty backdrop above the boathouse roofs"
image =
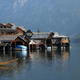
<path fill-rule="evenodd" d="M 0 22 L 76 35 L 80 32 L 80 0 L 0 0 Z"/>

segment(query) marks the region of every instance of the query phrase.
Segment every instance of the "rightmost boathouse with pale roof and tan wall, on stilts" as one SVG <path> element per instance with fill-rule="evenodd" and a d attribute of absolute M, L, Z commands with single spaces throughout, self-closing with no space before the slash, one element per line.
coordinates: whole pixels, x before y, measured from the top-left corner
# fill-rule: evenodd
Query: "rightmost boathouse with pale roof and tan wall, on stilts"
<path fill-rule="evenodd" d="M 59 33 L 55 33 L 52 37 L 52 45 L 57 48 L 69 48 L 70 47 L 70 39 L 68 36 L 60 35 Z"/>

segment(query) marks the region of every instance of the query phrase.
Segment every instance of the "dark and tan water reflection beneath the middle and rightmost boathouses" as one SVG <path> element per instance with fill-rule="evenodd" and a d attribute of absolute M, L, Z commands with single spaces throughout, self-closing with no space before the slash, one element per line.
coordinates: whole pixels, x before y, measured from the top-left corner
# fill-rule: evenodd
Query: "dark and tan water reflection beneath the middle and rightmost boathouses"
<path fill-rule="evenodd" d="M 54 49 L 52 51 L 35 51 L 35 52 L 30 52 L 30 57 L 32 59 L 35 59 L 36 57 L 38 59 L 47 59 L 47 60 L 54 60 L 60 59 L 60 60 L 68 60 L 70 57 L 70 50 L 58 50 Z"/>

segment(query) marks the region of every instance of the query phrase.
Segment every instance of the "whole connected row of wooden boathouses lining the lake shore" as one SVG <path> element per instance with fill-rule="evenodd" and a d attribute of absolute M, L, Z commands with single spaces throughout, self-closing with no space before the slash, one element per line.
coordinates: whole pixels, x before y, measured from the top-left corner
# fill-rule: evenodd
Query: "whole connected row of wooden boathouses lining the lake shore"
<path fill-rule="evenodd" d="M 31 50 L 45 50 L 48 47 L 60 49 L 69 48 L 70 39 L 56 32 L 31 32 L 15 24 L 0 23 L 0 50 L 12 50 L 16 45 L 25 45 Z"/>

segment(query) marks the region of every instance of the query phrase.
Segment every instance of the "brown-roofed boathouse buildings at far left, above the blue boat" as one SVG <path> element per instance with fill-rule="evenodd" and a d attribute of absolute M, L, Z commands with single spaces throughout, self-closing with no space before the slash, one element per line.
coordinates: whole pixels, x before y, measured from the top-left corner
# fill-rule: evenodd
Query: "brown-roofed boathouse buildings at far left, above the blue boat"
<path fill-rule="evenodd" d="M 0 46 L 12 46 L 17 44 L 28 46 L 29 38 L 25 35 L 26 30 L 22 27 L 17 27 L 15 24 L 0 23 Z"/>

